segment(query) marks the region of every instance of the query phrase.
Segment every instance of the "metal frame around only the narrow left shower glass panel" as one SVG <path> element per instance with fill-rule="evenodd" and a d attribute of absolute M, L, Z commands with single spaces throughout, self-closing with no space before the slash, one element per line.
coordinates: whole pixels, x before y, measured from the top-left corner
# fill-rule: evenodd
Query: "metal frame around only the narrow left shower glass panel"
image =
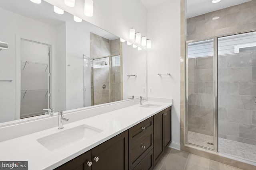
<path fill-rule="evenodd" d="M 214 149 L 188 143 L 188 44 L 200 41 L 213 40 L 213 108 L 214 108 Z M 207 150 L 218 152 L 218 37 L 186 41 L 186 91 L 185 91 L 185 146 L 196 146 Z"/>

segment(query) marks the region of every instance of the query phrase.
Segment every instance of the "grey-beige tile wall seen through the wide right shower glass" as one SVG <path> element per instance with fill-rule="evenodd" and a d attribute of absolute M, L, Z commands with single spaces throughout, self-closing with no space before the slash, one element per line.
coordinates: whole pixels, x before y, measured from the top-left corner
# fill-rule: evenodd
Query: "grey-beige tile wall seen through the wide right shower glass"
<path fill-rule="evenodd" d="M 219 137 L 256 145 L 256 52 L 218 56 Z"/>

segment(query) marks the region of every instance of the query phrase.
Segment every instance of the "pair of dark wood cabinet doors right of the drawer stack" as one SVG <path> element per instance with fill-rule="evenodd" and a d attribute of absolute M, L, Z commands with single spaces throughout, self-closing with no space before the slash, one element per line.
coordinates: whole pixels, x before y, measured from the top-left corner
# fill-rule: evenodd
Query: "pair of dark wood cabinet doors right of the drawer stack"
<path fill-rule="evenodd" d="M 171 107 L 168 107 L 154 115 L 154 166 L 171 142 Z"/>

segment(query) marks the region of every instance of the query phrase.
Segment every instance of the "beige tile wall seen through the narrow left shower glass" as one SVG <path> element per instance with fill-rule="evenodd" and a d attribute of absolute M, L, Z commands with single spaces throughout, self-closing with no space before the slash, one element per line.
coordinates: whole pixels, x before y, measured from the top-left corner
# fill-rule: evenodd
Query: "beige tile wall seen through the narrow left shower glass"
<path fill-rule="evenodd" d="M 188 131 L 213 136 L 213 57 L 188 59 Z"/>

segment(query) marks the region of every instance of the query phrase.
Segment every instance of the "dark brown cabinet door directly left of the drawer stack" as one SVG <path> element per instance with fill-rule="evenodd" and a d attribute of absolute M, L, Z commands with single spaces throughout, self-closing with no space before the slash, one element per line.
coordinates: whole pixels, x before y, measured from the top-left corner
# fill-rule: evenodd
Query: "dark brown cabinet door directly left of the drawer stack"
<path fill-rule="evenodd" d="M 92 149 L 92 159 L 92 170 L 128 170 L 128 130 Z"/>

